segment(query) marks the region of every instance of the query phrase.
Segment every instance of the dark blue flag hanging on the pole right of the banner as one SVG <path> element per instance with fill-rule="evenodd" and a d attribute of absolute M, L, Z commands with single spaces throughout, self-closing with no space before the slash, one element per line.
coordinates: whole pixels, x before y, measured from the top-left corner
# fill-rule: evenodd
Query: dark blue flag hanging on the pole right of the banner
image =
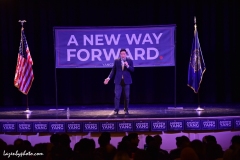
<path fill-rule="evenodd" d="M 188 86 L 191 87 L 195 93 L 198 93 L 205 70 L 206 66 L 198 39 L 197 27 L 195 25 L 191 57 L 188 67 Z"/>

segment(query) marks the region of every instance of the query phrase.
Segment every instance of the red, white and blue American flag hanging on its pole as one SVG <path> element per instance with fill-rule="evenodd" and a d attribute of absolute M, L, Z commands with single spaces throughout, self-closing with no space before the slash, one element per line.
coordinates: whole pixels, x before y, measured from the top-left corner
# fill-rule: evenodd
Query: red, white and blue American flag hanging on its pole
<path fill-rule="evenodd" d="M 24 29 L 22 28 L 14 86 L 26 95 L 28 94 L 34 79 L 32 65 L 32 57 L 30 55 Z"/>

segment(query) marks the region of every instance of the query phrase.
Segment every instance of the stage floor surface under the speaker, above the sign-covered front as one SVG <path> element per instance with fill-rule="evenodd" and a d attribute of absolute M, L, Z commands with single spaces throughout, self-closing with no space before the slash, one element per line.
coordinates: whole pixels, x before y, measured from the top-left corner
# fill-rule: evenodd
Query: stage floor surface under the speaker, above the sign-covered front
<path fill-rule="evenodd" d="M 177 105 L 183 109 L 169 109 L 174 105 L 130 105 L 129 115 L 124 115 L 121 105 L 119 115 L 113 115 L 113 105 L 91 106 L 29 106 L 31 114 L 25 114 L 25 107 L 0 108 L 0 120 L 107 120 L 107 119 L 187 119 L 187 118 L 239 118 L 240 104 L 202 104 L 204 111 L 196 111 L 197 105 Z M 69 107 L 69 112 L 67 112 Z"/>

